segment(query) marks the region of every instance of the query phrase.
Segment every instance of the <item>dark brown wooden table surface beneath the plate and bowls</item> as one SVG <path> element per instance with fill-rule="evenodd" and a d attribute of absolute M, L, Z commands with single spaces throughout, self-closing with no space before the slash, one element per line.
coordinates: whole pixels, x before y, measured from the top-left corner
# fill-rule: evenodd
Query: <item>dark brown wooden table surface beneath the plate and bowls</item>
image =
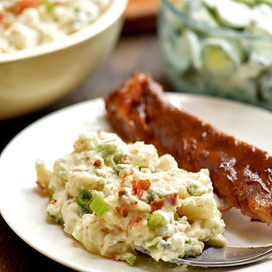
<path fill-rule="evenodd" d="M 136 71 L 151 73 L 170 91 L 155 33 L 121 37 L 113 53 L 83 85 L 72 93 L 40 112 L 0 121 L 0 152 L 17 133 L 33 121 L 65 106 L 106 96 Z M 4 181 L 1 180 L 0 182 Z M 20 211 L 18 209 L 14 212 Z M 22 222 L 22 224 L 24 223 Z M 56 270 L 73 271 L 50 260 L 25 243 L 0 216 L 0 272 Z"/>

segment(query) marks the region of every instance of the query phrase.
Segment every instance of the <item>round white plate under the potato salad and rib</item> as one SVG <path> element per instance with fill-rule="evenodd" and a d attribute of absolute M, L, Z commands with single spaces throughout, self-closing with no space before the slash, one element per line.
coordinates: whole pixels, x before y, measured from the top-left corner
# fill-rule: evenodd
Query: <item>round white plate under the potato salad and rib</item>
<path fill-rule="evenodd" d="M 214 124 L 220 130 L 253 143 L 272 154 L 272 113 L 228 100 L 191 94 L 170 94 L 171 101 Z M 89 272 L 202 271 L 156 263 L 143 258 L 136 266 L 92 254 L 63 227 L 46 220 L 47 197 L 35 190 L 35 161 L 53 162 L 66 152 L 84 131 L 110 131 L 102 99 L 79 103 L 33 123 L 6 146 L 0 156 L 0 211 L 7 224 L 29 245 L 47 257 L 73 269 Z M 10 199 L 12 197 L 12 200 Z M 239 211 L 224 214 L 229 246 L 271 245 L 272 226 L 252 223 Z M 269 272 L 272 258 L 256 264 L 220 269 L 239 272 Z M 205 270 L 206 271 L 206 270 Z"/>

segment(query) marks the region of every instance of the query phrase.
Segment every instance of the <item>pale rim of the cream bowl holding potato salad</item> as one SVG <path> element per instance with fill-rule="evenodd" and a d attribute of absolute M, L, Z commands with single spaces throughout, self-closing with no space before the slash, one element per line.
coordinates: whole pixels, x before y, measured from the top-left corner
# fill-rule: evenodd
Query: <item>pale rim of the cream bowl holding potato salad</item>
<path fill-rule="evenodd" d="M 78 32 L 73 33 L 72 35 L 69 35 L 59 41 L 38 45 L 33 48 L 0 53 L 0 63 L 37 57 L 82 43 L 104 31 L 114 22 L 116 22 L 124 13 L 127 4 L 128 0 L 111 0 L 107 9 L 93 23 L 84 27 Z"/>

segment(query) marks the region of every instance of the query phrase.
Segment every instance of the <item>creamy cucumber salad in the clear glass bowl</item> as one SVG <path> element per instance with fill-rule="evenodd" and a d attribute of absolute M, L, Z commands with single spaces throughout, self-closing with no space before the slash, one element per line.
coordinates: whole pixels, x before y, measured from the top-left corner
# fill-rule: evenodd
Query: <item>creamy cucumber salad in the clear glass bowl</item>
<path fill-rule="evenodd" d="M 161 2 L 159 33 L 175 89 L 272 109 L 272 0 Z"/>

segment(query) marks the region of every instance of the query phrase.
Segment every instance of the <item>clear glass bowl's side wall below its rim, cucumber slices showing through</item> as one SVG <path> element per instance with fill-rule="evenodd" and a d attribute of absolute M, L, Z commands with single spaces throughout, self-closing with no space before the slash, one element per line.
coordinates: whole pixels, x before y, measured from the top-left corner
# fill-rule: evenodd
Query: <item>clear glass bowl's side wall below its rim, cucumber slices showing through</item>
<path fill-rule="evenodd" d="M 158 35 L 176 91 L 222 96 L 272 110 L 271 36 L 210 27 L 168 0 L 160 2 Z"/>

